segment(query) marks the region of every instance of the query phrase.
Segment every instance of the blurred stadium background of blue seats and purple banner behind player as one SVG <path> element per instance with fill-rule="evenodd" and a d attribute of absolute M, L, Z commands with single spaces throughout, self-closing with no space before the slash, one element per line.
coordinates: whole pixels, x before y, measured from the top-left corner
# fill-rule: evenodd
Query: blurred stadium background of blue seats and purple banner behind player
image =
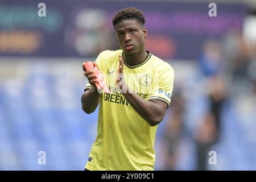
<path fill-rule="evenodd" d="M 40 2 L 0 2 L 1 170 L 83 170 L 97 111 L 81 109 L 82 63 L 118 49 L 111 20 L 127 6 L 176 73 L 155 170 L 256 170 L 256 1 L 214 1 L 217 17 L 210 1 L 44 0 L 46 17 Z"/>

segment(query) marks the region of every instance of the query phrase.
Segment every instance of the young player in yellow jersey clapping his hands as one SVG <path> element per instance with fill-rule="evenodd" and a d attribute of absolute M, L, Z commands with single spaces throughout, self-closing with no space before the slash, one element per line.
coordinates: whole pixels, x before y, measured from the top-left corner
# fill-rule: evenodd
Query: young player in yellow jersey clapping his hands
<path fill-rule="evenodd" d="M 100 103 L 88 170 L 154 169 L 156 129 L 171 102 L 174 70 L 145 50 L 144 23 L 142 11 L 133 7 L 113 18 L 121 49 L 101 52 L 96 60 L 110 94 L 98 92 L 93 71 L 84 73 L 89 83 L 82 109 L 90 114 Z"/>

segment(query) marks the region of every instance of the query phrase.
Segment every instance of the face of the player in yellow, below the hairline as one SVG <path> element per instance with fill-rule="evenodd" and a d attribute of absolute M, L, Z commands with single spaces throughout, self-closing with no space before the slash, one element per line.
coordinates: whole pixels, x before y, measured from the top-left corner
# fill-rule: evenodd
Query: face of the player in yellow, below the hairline
<path fill-rule="evenodd" d="M 119 47 L 126 55 L 134 55 L 145 46 L 147 29 L 137 20 L 123 20 L 115 25 Z"/>

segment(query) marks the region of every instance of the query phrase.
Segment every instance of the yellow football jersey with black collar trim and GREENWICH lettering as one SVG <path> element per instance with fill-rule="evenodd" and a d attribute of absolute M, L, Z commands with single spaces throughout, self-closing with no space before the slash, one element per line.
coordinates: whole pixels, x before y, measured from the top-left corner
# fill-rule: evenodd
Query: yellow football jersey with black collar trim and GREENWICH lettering
<path fill-rule="evenodd" d="M 101 94 L 97 138 L 85 168 L 154 170 L 158 126 L 148 125 L 117 89 L 115 78 L 121 53 L 122 50 L 104 51 L 96 60 L 110 94 Z M 174 69 L 170 64 L 148 52 L 141 64 L 131 66 L 124 60 L 123 74 L 129 88 L 144 100 L 161 100 L 170 105 L 174 84 Z M 91 87 L 88 83 L 85 89 Z"/>

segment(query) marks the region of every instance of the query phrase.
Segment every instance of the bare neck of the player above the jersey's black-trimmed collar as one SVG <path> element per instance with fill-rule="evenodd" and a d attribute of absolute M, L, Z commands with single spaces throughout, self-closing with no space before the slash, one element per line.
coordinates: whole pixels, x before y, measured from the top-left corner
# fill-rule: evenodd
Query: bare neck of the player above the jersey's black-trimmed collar
<path fill-rule="evenodd" d="M 123 52 L 123 59 L 128 63 L 129 65 L 137 65 L 139 63 L 142 63 L 148 56 L 148 53 L 143 50 L 141 52 L 135 53 L 134 55 L 126 55 Z"/>

